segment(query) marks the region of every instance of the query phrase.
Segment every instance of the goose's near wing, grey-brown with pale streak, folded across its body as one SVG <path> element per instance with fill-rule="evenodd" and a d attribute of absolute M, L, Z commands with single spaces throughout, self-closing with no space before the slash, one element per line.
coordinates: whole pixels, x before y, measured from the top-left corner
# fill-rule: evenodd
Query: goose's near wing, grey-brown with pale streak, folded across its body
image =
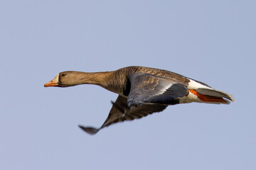
<path fill-rule="evenodd" d="M 145 73 L 130 74 L 128 79 L 131 84 L 128 106 L 144 103 L 174 105 L 178 103 L 178 98 L 188 95 L 186 85 L 173 79 Z"/>

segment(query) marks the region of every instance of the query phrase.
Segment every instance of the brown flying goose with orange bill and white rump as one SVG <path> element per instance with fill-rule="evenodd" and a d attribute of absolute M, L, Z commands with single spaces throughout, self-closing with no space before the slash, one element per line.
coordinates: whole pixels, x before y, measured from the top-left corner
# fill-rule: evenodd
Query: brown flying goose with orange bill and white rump
<path fill-rule="evenodd" d="M 91 135 L 114 123 L 164 111 L 169 105 L 191 102 L 229 104 L 235 101 L 232 95 L 215 90 L 201 81 L 164 69 L 139 66 L 112 72 L 60 72 L 44 86 L 68 87 L 79 84 L 96 84 L 118 94 L 100 128 L 78 125 Z"/>

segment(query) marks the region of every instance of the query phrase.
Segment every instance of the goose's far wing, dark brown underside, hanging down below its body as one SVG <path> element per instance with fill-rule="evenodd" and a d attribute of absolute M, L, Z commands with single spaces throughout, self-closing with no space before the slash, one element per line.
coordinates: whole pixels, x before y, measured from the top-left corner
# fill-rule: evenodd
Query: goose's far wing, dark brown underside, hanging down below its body
<path fill-rule="evenodd" d="M 127 106 L 127 98 L 123 96 L 118 96 L 117 100 L 113 103 L 113 106 L 110 110 L 105 123 L 100 128 L 84 127 L 79 125 L 82 130 L 90 133 L 91 135 L 96 134 L 100 129 L 105 128 L 108 125 L 113 123 L 122 122 L 125 120 L 134 120 L 137 118 L 142 118 L 146 115 L 149 115 L 154 112 L 161 112 L 167 107 L 163 104 L 143 104 L 142 106 L 129 108 Z"/>

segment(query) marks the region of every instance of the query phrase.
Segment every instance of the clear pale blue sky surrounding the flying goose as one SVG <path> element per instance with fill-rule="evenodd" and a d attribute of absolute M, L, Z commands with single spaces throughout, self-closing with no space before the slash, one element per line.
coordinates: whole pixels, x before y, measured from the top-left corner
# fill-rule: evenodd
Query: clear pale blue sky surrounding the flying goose
<path fill-rule="evenodd" d="M 256 169 L 255 1 L 1 1 L 0 169 Z M 233 94 L 102 125 L 117 94 L 58 72 L 167 69 Z"/>

